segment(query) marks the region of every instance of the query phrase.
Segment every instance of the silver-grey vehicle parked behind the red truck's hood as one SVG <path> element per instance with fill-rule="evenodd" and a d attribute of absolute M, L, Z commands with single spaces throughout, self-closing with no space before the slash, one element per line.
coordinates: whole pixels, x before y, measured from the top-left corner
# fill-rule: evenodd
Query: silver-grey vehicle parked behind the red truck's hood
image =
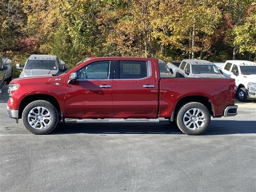
<path fill-rule="evenodd" d="M 24 68 L 16 64 L 18 70 L 22 70 L 20 77 L 61 74 L 68 66 L 56 55 L 30 55 Z"/>

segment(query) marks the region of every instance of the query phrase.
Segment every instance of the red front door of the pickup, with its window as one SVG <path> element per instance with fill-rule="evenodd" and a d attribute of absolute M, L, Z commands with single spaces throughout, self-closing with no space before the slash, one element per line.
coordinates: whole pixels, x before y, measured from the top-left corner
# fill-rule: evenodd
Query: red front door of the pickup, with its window
<path fill-rule="evenodd" d="M 113 61 L 92 62 L 77 71 L 74 85 L 64 86 L 66 114 L 70 117 L 108 118 L 113 115 Z"/>

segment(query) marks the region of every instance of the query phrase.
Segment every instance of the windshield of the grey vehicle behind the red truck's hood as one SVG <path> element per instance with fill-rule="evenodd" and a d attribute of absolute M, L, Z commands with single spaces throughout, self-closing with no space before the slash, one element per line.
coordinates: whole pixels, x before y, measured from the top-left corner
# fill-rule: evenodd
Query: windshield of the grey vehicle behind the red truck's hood
<path fill-rule="evenodd" d="M 28 60 L 25 69 L 57 70 L 57 67 L 53 60 Z"/>

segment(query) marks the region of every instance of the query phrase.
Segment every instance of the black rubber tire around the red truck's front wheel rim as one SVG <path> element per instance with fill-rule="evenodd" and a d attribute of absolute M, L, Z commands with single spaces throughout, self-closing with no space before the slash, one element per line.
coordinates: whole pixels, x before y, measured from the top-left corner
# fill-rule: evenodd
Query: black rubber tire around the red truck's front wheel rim
<path fill-rule="evenodd" d="M 28 122 L 28 114 L 30 113 L 30 110 L 32 110 L 33 108 L 38 107 L 38 106 L 46 108 L 50 112 L 51 117 L 52 117 L 49 125 L 43 129 L 33 128 Z M 25 128 L 33 134 L 36 134 L 36 135 L 48 134 L 56 128 L 56 126 L 59 122 L 58 110 L 56 109 L 56 107 L 53 104 L 51 104 L 48 101 L 36 100 L 36 101 L 31 102 L 24 108 L 24 110 L 22 112 L 22 122 L 23 122 L 23 125 L 25 126 Z"/>

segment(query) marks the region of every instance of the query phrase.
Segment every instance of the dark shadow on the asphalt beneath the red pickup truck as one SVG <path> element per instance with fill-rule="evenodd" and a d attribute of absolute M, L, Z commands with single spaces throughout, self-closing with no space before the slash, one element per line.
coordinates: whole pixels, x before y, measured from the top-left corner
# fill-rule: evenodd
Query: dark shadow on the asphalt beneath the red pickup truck
<path fill-rule="evenodd" d="M 159 123 L 60 123 L 50 134 L 183 134 L 168 121 Z M 212 120 L 203 135 L 256 133 L 256 121 Z"/>

